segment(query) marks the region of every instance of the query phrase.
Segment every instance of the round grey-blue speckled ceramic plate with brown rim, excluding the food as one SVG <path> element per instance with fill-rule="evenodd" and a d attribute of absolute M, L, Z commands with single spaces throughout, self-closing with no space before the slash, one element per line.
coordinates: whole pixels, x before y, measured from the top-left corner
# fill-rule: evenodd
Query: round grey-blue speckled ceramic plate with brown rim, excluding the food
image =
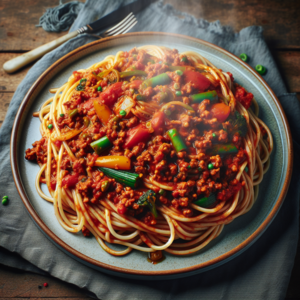
<path fill-rule="evenodd" d="M 274 140 L 270 169 L 259 185 L 259 195 L 252 209 L 226 225 L 217 238 L 198 252 L 186 256 L 165 253 L 165 259 L 156 265 L 147 262 L 147 252 L 133 250 L 125 256 L 112 256 L 98 245 L 95 238 L 85 238 L 81 233 L 65 231 L 54 216 L 52 204 L 40 198 L 35 190 L 38 165 L 24 159 L 25 149 L 40 139 L 39 120 L 32 117 L 32 112 L 37 111 L 50 96 L 49 88 L 63 84 L 73 70 L 86 68 L 118 50 L 128 51 L 134 46 L 145 44 L 164 45 L 176 48 L 179 52 L 193 50 L 217 67 L 231 72 L 238 83 L 254 94 L 260 108 L 259 117 L 270 128 Z M 292 145 L 288 124 L 278 99 L 261 76 L 245 62 L 213 44 L 193 37 L 135 32 L 81 46 L 40 75 L 28 90 L 15 118 L 11 138 L 11 165 L 16 186 L 30 216 L 61 250 L 109 274 L 138 279 L 170 279 L 216 267 L 236 257 L 257 240 L 275 217 L 286 194 L 291 175 Z"/>

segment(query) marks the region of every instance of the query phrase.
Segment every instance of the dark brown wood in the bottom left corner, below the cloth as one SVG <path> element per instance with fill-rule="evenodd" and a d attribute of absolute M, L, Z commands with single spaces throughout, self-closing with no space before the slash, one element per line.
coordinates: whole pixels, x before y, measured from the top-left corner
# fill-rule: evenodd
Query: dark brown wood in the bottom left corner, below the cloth
<path fill-rule="evenodd" d="M 43 286 L 44 282 L 48 283 L 47 287 Z M 91 300 L 82 289 L 74 284 L 0 264 L 0 299 L 5 298 Z"/>

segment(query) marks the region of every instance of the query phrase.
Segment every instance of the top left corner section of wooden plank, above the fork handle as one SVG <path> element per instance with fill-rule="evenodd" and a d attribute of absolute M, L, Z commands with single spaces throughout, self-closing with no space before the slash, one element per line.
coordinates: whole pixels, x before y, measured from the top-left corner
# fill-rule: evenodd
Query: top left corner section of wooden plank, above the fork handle
<path fill-rule="evenodd" d="M 15 1 L 1 1 L 0 51 L 24 52 L 66 34 L 67 31 L 47 32 L 35 26 L 46 8 L 58 4 L 58 0 L 18 0 L 17 5 Z"/>

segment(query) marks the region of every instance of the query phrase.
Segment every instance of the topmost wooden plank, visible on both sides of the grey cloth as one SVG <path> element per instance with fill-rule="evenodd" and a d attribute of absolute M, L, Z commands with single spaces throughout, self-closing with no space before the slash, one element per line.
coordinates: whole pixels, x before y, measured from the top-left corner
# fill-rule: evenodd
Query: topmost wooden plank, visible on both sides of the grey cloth
<path fill-rule="evenodd" d="M 2 1 L 0 51 L 29 50 L 66 33 L 49 33 L 35 26 L 45 9 L 57 5 L 58 1 L 44 0 L 42 3 L 36 5 L 35 0 L 18 0 L 18 5 L 15 5 L 14 1 Z M 235 31 L 250 25 L 262 26 L 271 47 L 300 48 L 300 1 L 211 0 L 198 3 L 197 0 L 165 0 L 165 3 L 197 18 L 220 20 L 221 24 L 230 25 Z"/>

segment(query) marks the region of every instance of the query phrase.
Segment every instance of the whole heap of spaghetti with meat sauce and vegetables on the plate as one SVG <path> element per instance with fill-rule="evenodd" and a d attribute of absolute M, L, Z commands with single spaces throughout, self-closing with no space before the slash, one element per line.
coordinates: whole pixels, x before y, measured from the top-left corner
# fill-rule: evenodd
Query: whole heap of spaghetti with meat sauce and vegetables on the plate
<path fill-rule="evenodd" d="M 119 51 L 50 92 L 25 158 L 60 225 L 105 251 L 189 254 L 255 202 L 271 133 L 253 95 L 200 54 Z"/>

